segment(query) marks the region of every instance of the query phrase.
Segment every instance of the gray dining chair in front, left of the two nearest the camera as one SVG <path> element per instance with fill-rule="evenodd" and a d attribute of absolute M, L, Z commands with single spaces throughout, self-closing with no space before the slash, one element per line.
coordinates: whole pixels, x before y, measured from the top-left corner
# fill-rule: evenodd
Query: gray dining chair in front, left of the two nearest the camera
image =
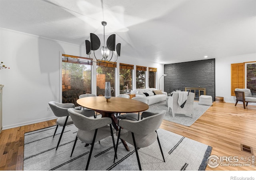
<path fill-rule="evenodd" d="M 96 141 L 100 141 L 108 136 L 112 136 L 114 151 L 115 151 L 115 142 L 114 142 L 114 135 L 113 133 L 116 132 L 114 128 L 112 128 L 112 120 L 111 118 L 104 117 L 104 118 L 88 118 L 83 115 L 82 110 L 75 110 L 73 108 L 68 109 L 68 113 L 70 114 L 74 125 L 78 128 L 76 134 L 76 140 L 74 142 L 74 146 L 72 148 L 73 154 L 74 148 L 76 146 L 76 141 L 79 139 L 80 141 L 91 144 L 90 154 L 88 156 L 86 169 L 88 170 L 88 166 L 90 163 L 90 159 L 92 156 L 92 150 L 94 147 L 94 143 Z"/>

